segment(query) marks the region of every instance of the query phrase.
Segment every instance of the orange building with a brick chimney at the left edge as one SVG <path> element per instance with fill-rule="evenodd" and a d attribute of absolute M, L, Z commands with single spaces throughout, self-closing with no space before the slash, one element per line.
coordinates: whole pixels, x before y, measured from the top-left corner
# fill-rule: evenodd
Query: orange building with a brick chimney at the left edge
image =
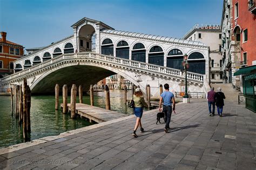
<path fill-rule="evenodd" d="M 0 39 L 0 79 L 14 73 L 14 61 L 23 56 L 23 46 L 6 40 L 6 32 Z"/>

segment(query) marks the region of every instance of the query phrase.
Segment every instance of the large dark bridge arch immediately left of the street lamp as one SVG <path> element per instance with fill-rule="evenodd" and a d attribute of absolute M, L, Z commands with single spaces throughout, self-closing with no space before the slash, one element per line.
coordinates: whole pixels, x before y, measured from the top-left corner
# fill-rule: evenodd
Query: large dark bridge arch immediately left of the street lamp
<path fill-rule="evenodd" d="M 179 49 L 171 49 L 167 54 L 166 66 L 170 68 L 183 69 L 181 62 L 183 61 L 183 53 Z"/>

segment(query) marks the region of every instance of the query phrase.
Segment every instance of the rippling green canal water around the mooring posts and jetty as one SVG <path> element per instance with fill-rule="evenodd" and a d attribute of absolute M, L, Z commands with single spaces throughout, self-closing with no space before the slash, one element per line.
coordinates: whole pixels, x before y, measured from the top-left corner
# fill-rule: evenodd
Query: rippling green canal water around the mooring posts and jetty
<path fill-rule="evenodd" d="M 94 93 L 94 95 L 95 106 L 105 108 L 104 91 Z M 11 113 L 10 98 L 10 96 L 0 96 L 0 148 L 23 143 L 22 129 L 19 128 L 15 114 Z M 59 102 L 62 103 L 62 96 L 59 98 Z M 128 91 L 127 98 L 131 98 L 131 91 Z M 70 103 L 70 96 L 68 102 Z M 79 102 L 78 98 L 77 102 Z M 90 104 L 90 96 L 84 94 L 83 102 Z M 111 110 L 133 114 L 132 108 L 124 104 L 123 90 L 110 90 L 110 103 Z M 62 114 L 60 109 L 55 111 L 55 96 L 31 97 L 31 140 L 58 135 L 91 124 L 83 118 L 71 119 L 70 114 Z"/>

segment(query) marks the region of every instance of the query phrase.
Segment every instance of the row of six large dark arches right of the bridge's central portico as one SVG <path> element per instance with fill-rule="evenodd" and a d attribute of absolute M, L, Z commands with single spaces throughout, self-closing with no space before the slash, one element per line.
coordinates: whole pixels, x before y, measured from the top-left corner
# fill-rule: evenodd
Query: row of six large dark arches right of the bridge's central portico
<path fill-rule="evenodd" d="M 111 39 L 106 38 L 102 42 L 102 54 L 114 55 L 114 45 Z M 125 40 L 121 40 L 116 46 L 116 57 L 122 59 L 129 59 L 130 46 Z M 155 45 L 149 50 L 149 63 L 158 66 L 164 66 L 164 51 L 163 49 Z M 171 49 L 166 56 L 166 67 L 182 69 L 181 62 L 183 61 L 183 52 L 179 49 Z M 131 49 L 131 59 L 139 62 L 146 62 L 146 48 L 138 42 Z M 190 72 L 205 74 L 205 58 L 204 55 L 199 52 L 193 52 L 188 56 L 190 63 Z"/>

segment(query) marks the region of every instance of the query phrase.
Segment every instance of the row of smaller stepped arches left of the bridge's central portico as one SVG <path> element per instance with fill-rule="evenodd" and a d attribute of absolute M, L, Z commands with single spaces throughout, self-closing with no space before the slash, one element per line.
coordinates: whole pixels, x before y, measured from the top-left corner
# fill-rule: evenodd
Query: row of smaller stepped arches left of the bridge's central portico
<path fill-rule="evenodd" d="M 74 53 L 73 45 L 70 42 L 68 42 L 64 46 L 63 52 L 64 52 L 64 54 Z M 32 62 L 31 62 L 31 60 L 25 60 L 23 67 L 24 67 L 24 69 L 29 68 L 31 66 L 37 65 L 38 63 L 41 63 L 42 61 L 46 61 L 46 60 L 49 60 L 51 58 L 55 58 L 56 56 L 62 55 L 62 54 L 63 54 L 62 50 L 59 47 L 56 47 L 52 54 L 50 54 L 49 52 L 45 52 L 43 54 L 42 59 L 40 58 L 40 56 L 37 55 L 33 58 Z M 22 65 L 17 64 L 16 67 L 15 67 L 15 72 L 18 72 L 20 70 L 22 70 Z"/>

